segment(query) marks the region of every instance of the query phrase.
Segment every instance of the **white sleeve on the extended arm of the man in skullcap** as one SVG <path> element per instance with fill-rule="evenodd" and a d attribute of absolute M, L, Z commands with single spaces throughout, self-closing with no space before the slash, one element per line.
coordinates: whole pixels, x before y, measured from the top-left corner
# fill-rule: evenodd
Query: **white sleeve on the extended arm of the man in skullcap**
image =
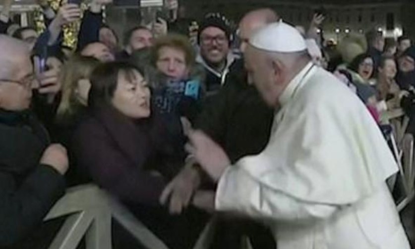
<path fill-rule="evenodd" d="M 256 218 L 306 222 L 325 219 L 340 206 L 296 199 L 263 185 L 242 168 L 231 166 L 219 182 L 215 208 Z"/>

